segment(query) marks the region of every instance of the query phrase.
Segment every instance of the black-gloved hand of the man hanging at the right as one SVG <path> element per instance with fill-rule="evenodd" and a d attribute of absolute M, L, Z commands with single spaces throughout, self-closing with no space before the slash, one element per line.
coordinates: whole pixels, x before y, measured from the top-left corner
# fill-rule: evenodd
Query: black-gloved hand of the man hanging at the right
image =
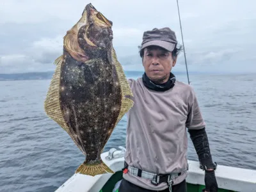
<path fill-rule="evenodd" d="M 202 190 L 203 192 L 218 192 L 218 184 L 213 169 L 205 170 L 204 182 L 205 189 Z"/>

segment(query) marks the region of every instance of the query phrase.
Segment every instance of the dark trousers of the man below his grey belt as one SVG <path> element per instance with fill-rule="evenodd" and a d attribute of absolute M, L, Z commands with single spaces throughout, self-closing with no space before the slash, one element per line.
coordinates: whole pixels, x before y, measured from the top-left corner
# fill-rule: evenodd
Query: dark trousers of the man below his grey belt
<path fill-rule="evenodd" d="M 141 188 L 140 186 L 136 186 L 131 182 L 125 179 L 122 179 L 118 192 L 156 192 L 156 191 Z M 169 192 L 169 188 L 164 189 L 161 192 Z M 180 182 L 177 185 L 173 185 L 172 192 L 187 192 L 186 179 L 184 179 L 184 181 Z"/>

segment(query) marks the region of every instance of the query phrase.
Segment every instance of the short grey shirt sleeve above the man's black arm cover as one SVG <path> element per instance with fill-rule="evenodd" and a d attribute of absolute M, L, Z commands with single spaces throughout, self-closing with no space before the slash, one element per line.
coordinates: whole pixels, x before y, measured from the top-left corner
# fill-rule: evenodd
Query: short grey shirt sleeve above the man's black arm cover
<path fill-rule="evenodd" d="M 202 117 L 198 100 L 192 87 L 188 98 L 188 117 L 186 127 L 188 129 L 202 129 L 205 127 L 205 121 Z"/>

